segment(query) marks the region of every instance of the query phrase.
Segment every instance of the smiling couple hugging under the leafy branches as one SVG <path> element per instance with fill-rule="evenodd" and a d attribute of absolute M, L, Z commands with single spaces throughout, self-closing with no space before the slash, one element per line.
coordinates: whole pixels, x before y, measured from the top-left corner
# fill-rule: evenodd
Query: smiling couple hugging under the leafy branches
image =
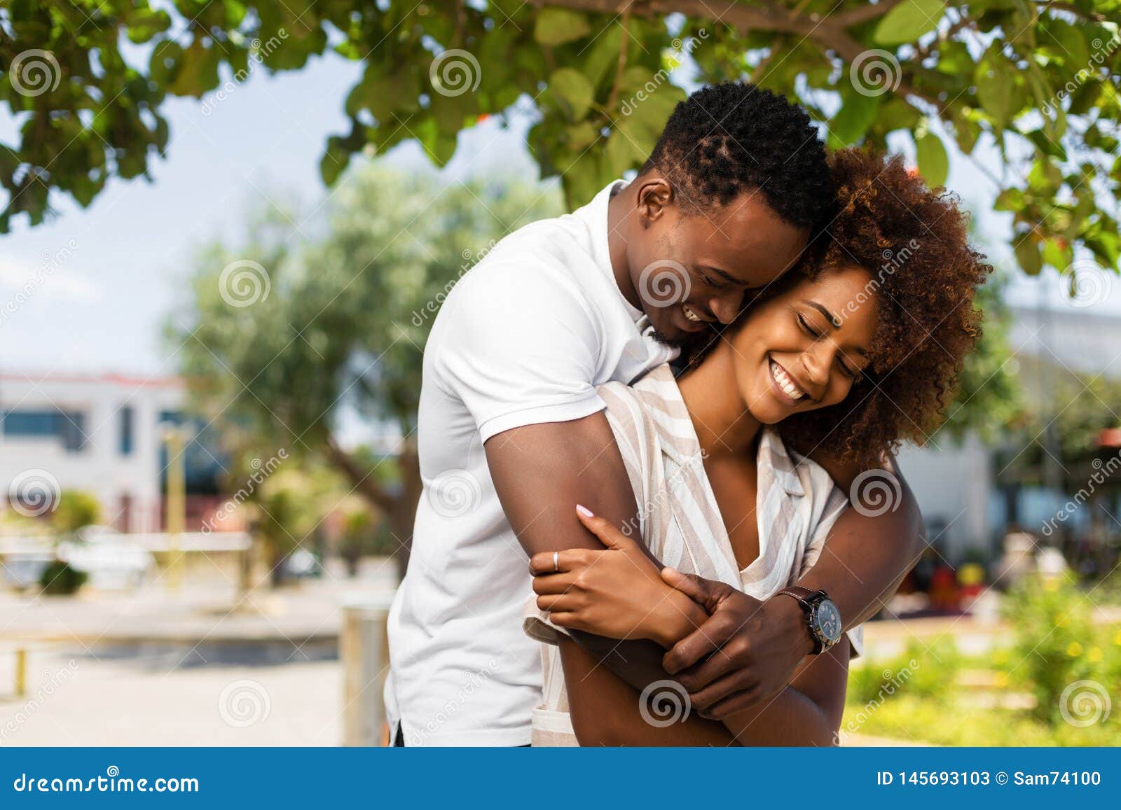
<path fill-rule="evenodd" d="M 834 744 L 923 542 L 892 455 L 980 334 L 966 230 L 728 83 L 633 180 L 499 242 L 425 348 L 392 743 Z"/>

